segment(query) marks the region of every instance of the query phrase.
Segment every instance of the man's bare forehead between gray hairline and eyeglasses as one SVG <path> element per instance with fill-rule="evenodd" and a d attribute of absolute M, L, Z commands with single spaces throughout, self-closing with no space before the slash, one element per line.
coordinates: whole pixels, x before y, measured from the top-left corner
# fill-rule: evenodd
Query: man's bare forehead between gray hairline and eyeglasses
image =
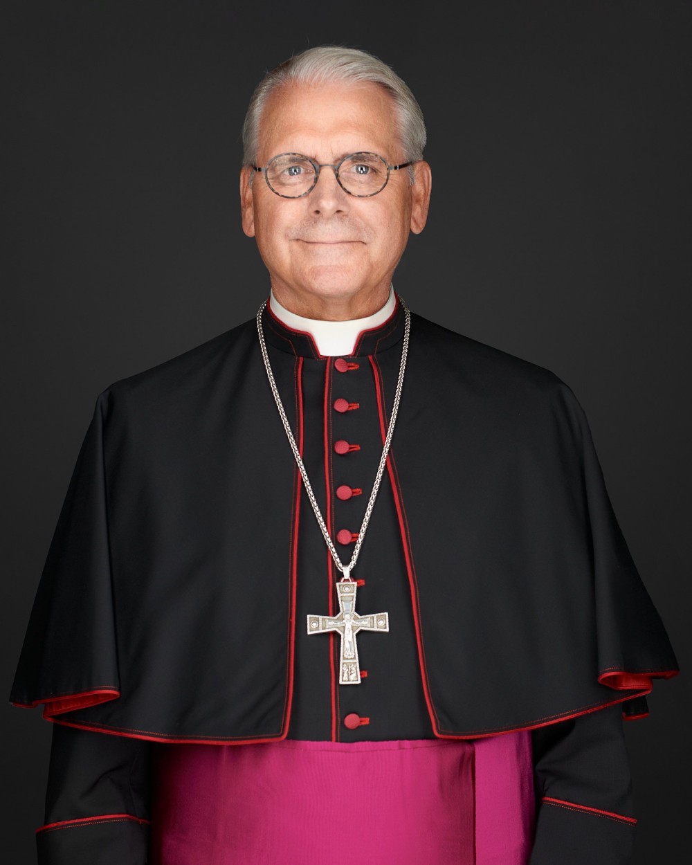
<path fill-rule="evenodd" d="M 297 152 L 329 162 L 354 151 L 400 159 L 394 103 L 372 82 L 291 84 L 267 99 L 259 122 L 259 163 Z"/>

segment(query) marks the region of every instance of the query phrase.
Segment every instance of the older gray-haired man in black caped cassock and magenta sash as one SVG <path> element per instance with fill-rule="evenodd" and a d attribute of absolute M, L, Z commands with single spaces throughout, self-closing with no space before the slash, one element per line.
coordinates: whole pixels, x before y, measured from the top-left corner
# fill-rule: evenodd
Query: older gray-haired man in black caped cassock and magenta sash
<path fill-rule="evenodd" d="M 45 865 L 629 861 L 676 660 L 571 391 L 394 294 L 425 139 L 361 51 L 259 84 L 269 302 L 99 396 L 48 554 Z"/>

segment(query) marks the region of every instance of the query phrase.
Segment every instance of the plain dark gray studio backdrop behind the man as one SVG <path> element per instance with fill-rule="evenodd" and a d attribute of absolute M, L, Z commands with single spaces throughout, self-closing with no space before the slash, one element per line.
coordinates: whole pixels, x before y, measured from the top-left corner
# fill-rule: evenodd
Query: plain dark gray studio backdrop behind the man
<path fill-rule="evenodd" d="M 266 298 L 240 124 L 266 68 L 326 42 L 426 114 L 431 216 L 396 289 L 573 388 L 689 669 L 690 3 L 235 6 L 3 3 L 5 691 L 97 394 Z M 688 820 L 688 695 L 659 684 L 626 728 L 638 863 L 674 861 Z M 33 862 L 50 725 L 0 719 L 3 849 Z"/>

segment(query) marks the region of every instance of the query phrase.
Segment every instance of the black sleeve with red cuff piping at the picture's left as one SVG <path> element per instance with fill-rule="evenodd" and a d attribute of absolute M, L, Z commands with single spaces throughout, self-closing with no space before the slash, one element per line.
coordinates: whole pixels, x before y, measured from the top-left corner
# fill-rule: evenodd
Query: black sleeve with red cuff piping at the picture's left
<path fill-rule="evenodd" d="M 38 865 L 146 865 L 153 747 L 54 725 Z"/>

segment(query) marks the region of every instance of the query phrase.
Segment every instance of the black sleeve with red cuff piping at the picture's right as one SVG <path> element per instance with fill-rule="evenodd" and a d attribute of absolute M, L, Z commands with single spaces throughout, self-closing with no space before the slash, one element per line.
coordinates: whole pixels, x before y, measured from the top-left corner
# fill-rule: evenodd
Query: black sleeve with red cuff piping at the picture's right
<path fill-rule="evenodd" d="M 619 706 L 532 733 L 536 825 L 530 865 L 627 865 L 634 828 Z"/>

